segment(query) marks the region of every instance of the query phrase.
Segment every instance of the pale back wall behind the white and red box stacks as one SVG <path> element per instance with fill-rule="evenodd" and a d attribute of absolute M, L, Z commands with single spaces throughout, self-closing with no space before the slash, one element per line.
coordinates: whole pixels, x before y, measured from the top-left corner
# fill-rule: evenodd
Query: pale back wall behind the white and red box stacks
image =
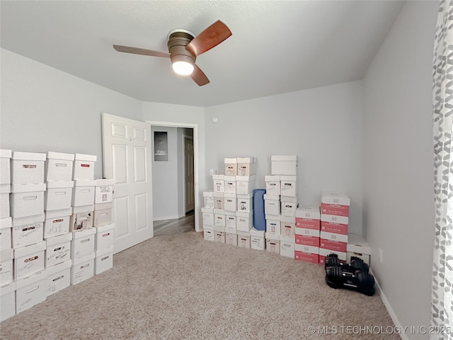
<path fill-rule="evenodd" d="M 319 205 L 323 190 L 345 192 L 350 232 L 362 234 L 363 110 L 361 81 L 208 107 L 206 169 L 224 174 L 225 157 L 257 157 L 265 188 L 270 156 L 297 154 L 299 204 Z M 212 189 L 209 170 L 205 179 Z"/>

